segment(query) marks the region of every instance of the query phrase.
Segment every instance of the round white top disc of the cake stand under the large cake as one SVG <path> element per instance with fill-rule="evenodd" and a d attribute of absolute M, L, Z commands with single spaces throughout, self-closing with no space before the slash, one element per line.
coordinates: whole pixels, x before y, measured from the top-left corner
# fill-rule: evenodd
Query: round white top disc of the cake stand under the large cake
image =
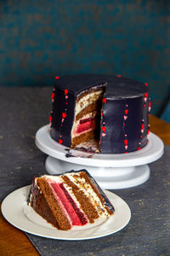
<path fill-rule="evenodd" d="M 37 131 L 35 141 L 37 148 L 54 158 L 74 164 L 100 167 L 142 166 L 159 159 L 163 154 L 164 145 L 161 139 L 150 132 L 149 143 L 141 150 L 133 151 L 128 154 L 94 154 L 92 158 L 66 157 L 65 149 L 67 147 L 55 142 L 54 139 L 50 137 L 49 130 L 50 126 L 45 125 Z M 80 154 L 80 151 L 74 151 Z"/>

